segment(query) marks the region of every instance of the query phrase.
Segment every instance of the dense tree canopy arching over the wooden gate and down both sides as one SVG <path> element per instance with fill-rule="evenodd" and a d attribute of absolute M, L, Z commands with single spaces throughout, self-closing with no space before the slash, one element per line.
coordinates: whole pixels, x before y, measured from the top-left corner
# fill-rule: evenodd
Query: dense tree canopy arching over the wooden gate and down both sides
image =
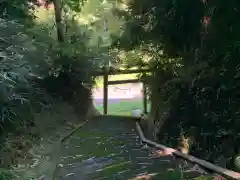
<path fill-rule="evenodd" d="M 195 152 L 201 154 L 204 148 L 214 152 L 209 160 L 222 152 L 227 157 L 239 153 L 239 0 L 43 3 L 48 6 L 45 16 L 46 9 L 41 9 L 39 2 L 1 1 L 0 25 L 4 28 L 0 32 L 0 55 L 4 63 L 0 80 L 4 83 L 0 126 L 19 113 L 16 104 L 32 102 L 33 94 L 46 94 L 42 86 L 41 91 L 33 90 L 32 74 L 44 79 L 67 73 L 71 80 L 77 79 L 72 84 L 78 84 L 89 81 L 94 68 L 118 60 L 127 67 L 148 66 L 155 70 L 148 78 L 154 115 L 149 124 L 156 128 L 158 138 L 165 140 L 165 133 L 177 138 L 192 133 L 197 142 Z M 27 26 L 29 22 L 31 26 Z M 36 53 L 39 58 L 33 62 Z M 17 78 L 18 74 L 21 76 Z M 56 78 L 51 78 L 48 84 L 57 84 Z M 61 89 L 59 86 L 53 89 Z M 74 91 L 70 94 L 77 88 L 70 87 Z M 31 103 L 26 104 L 30 111 Z M 226 139 L 235 148 L 230 153 L 219 143 Z"/>

